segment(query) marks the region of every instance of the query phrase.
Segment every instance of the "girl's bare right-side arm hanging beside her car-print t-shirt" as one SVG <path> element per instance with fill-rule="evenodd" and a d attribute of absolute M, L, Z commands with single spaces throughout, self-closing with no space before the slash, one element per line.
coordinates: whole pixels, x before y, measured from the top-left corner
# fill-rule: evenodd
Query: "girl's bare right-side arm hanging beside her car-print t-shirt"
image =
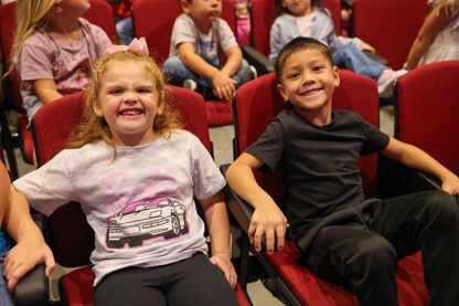
<path fill-rule="evenodd" d="M 237 275 L 231 263 L 230 221 L 222 192 L 199 201 L 204 211 L 205 224 L 211 235 L 212 257 L 210 261 L 223 272 L 230 285 L 234 288 Z"/>

